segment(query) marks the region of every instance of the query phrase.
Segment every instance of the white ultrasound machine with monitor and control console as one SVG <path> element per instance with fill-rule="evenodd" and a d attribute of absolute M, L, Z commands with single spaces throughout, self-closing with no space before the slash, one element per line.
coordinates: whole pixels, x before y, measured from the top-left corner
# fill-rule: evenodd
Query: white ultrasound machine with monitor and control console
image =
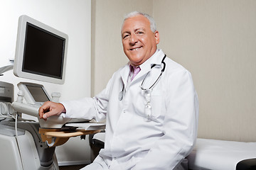
<path fill-rule="evenodd" d="M 17 77 L 63 84 L 67 57 L 68 35 L 28 16 L 18 20 L 14 74 Z M 47 121 L 38 118 L 38 108 L 52 101 L 42 84 L 20 82 L 14 101 L 14 85 L 0 81 L 0 169 L 59 169 L 55 146 L 69 137 L 47 136 L 48 131 L 71 130 L 78 135 L 77 125 L 66 123 L 88 122 L 52 116 Z M 38 118 L 38 122 L 23 120 L 22 114 Z M 95 132 L 92 130 L 92 132 Z M 60 139 L 60 141 L 58 141 Z M 59 142 L 59 143 L 58 143 Z"/>

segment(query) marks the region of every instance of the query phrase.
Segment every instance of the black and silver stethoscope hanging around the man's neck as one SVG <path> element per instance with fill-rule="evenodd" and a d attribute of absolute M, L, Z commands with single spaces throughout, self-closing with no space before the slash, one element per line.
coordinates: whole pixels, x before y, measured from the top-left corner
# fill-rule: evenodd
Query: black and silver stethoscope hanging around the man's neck
<path fill-rule="evenodd" d="M 149 88 L 144 88 L 143 84 L 144 84 L 144 81 L 146 79 L 146 77 L 149 75 L 149 71 L 146 76 L 144 77 L 143 81 L 142 81 L 142 84 L 139 86 L 142 91 L 144 91 L 144 96 L 145 96 L 145 99 L 146 99 L 146 104 L 145 104 L 145 114 L 146 114 L 146 119 L 147 120 L 151 120 L 151 116 L 152 116 L 152 111 L 151 111 L 151 91 L 153 90 L 154 86 L 157 84 L 157 82 L 159 81 L 159 79 L 161 78 L 161 75 L 163 74 L 164 72 L 164 69 L 166 67 L 166 63 L 164 62 L 164 59 L 166 58 L 166 55 L 164 55 L 163 57 L 163 60 L 161 60 L 161 63 L 164 64 L 164 67 L 163 69 L 161 69 L 161 73 L 159 74 L 159 77 L 157 77 L 156 81 L 154 81 L 154 84 L 152 84 L 151 86 L 149 86 Z M 153 69 L 154 67 L 156 66 L 156 64 L 152 64 L 151 65 L 151 69 Z M 124 97 L 124 85 L 122 87 L 122 91 L 119 92 L 119 101 L 122 101 Z"/>

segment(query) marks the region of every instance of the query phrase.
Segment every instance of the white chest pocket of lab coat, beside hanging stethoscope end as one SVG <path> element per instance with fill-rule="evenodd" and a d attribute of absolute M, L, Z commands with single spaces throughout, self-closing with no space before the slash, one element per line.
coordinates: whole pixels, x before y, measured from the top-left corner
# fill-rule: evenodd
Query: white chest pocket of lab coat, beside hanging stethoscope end
<path fill-rule="evenodd" d="M 162 104 L 162 94 L 160 90 L 153 90 L 151 92 L 151 110 L 152 118 L 159 118 L 161 115 L 161 104 Z"/>

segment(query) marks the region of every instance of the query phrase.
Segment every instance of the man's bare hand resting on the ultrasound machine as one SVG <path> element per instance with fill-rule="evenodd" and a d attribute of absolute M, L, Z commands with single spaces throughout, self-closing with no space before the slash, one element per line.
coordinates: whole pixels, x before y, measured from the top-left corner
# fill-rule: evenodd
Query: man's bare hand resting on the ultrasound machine
<path fill-rule="evenodd" d="M 65 113 L 65 107 L 61 103 L 54 103 L 52 101 L 46 101 L 43 106 L 39 108 L 38 114 L 40 118 L 46 120 L 52 115 L 60 115 Z"/>

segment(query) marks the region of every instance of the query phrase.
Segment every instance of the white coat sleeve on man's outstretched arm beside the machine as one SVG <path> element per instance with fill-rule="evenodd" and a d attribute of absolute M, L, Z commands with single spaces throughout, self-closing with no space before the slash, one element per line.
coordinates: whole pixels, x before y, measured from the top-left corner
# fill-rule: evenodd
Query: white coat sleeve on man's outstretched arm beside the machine
<path fill-rule="evenodd" d="M 93 98 L 60 102 L 66 110 L 66 113 L 62 114 L 63 117 L 95 119 L 97 122 L 104 121 L 107 114 L 107 103 L 109 101 L 111 84 L 112 79 L 110 79 L 106 88 Z"/>

